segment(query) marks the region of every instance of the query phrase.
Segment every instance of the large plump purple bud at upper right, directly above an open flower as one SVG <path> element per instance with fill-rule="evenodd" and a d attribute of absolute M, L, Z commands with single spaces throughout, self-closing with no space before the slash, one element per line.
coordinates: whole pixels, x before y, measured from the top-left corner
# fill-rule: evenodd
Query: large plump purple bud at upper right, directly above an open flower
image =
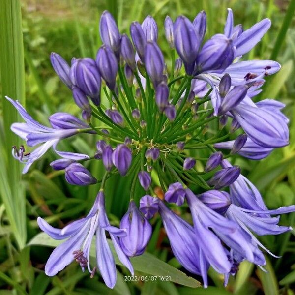
<path fill-rule="evenodd" d="M 225 35 L 216 34 L 204 44 L 198 55 L 198 72 L 225 69 L 234 58 L 235 50 L 232 40 Z"/>

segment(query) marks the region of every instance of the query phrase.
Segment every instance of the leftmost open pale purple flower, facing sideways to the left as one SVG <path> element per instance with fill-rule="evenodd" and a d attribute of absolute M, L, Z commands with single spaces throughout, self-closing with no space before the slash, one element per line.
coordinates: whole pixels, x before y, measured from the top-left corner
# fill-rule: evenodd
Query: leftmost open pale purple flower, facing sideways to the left
<path fill-rule="evenodd" d="M 23 108 L 23 106 L 17 101 L 5 96 L 13 106 L 17 109 L 22 118 L 26 123 L 13 123 L 11 125 L 11 130 L 17 134 L 22 139 L 26 140 L 28 146 L 35 146 L 43 143 L 38 148 L 35 148 L 32 152 L 25 154 L 24 148 L 21 150 L 21 153 L 18 152 L 16 148 L 13 148 L 13 156 L 18 159 L 20 162 L 25 163 L 23 173 L 27 173 L 29 167 L 33 164 L 34 161 L 39 159 L 44 155 L 44 153 L 50 148 L 58 144 L 59 140 L 63 138 L 70 137 L 79 132 L 77 128 L 73 129 L 54 129 L 46 127 L 37 121 L 35 121 Z M 83 123 L 83 122 L 82 122 Z M 83 123 L 84 124 L 84 123 Z M 81 132 L 82 130 L 80 130 Z M 56 151 L 60 156 L 63 157 L 63 154 L 66 152 Z M 82 158 L 89 158 L 87 155 L 75 154 L 75 153 L 66 153 L 70 156 L 71 159 L 76 159 L 77 155 Z M 84 157 L 85 156 L 85 157 Z"/>

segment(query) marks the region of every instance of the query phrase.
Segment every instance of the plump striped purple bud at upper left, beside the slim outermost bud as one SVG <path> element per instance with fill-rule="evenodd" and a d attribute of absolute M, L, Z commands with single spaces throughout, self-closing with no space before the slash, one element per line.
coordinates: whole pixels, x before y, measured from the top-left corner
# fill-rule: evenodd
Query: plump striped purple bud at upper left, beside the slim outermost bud
<path fill-rule="evenodd" d="M 96 106 L 100 105 L 101 78 L 93 59 L 77 59 L 71 66 L 70 77 Z"/>

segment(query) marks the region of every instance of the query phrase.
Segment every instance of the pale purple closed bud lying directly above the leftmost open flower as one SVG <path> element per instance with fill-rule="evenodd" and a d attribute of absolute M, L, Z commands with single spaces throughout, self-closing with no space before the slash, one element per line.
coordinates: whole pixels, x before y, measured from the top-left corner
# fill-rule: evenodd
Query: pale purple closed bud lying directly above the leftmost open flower
<path fill-rule="evenodd" d="M 54 113 L 48 119 L 55 129 L 89 128 L 88 124 L 68 113 Z"/>

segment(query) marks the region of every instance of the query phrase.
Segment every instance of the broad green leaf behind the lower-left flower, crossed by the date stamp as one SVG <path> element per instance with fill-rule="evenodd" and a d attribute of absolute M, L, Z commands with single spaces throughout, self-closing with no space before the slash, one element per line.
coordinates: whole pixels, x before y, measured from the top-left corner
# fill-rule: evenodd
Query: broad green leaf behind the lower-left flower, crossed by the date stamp
<path fill-rule="evenodd" d="M 40 233 L 37 236 L 33 237 L 32 240 L 29 242 L 29 246 L 32 245 L 43 245 L 48 247 L 56 247 L 63 241 L 54 240 L 49 237 L 45 233 Z M 115 262 L 117 265 L 122 266 L 122 263 L 118 260 L 116 252 L 114 250 L 114 246 L 110 240 L 108 240 L 111 250 L 115 257 Z M 90 250 L 90 258 L 95 259 L 95 247 L 94 241 L 92 241 L 92 246 Z M 161 276 L 161 277 L 169 277 L 172 282 L 175 282 L 180 285 L 188 286 L 188 287 L 200 287 L 201 283 L 195 280 L 192 277 L 187 276 L 182 271 L 170 266 L 169 264 L 159 260 L 158 258 L 154 257 L 150 253 L 144 253 L 141 256 L 131 257 L 130 261 L 135 270 L 147 273 L 152 276 Z"/>

